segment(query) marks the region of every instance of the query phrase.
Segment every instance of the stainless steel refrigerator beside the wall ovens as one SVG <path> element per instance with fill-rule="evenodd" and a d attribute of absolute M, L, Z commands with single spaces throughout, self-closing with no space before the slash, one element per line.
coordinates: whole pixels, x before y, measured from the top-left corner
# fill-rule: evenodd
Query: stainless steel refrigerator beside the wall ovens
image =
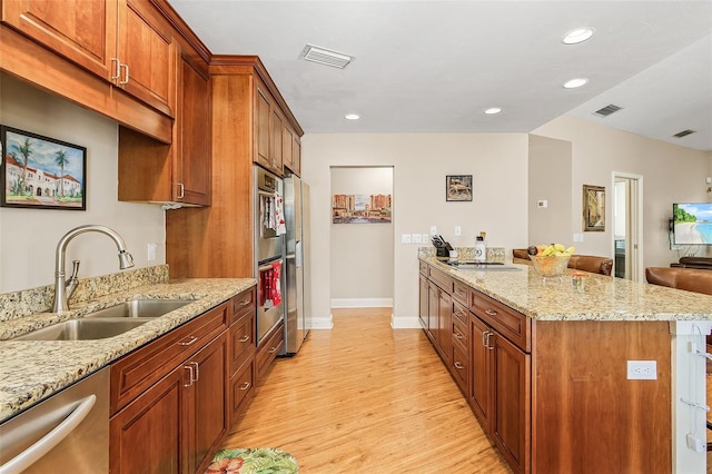
<path fill-rule="evenodd" d="M 287 226 L 287 314 L 284 355 L 295 355 L 312 328 L 309 274 L 309 186 L 297 176 L 288 176 L 285 186 Z"/>

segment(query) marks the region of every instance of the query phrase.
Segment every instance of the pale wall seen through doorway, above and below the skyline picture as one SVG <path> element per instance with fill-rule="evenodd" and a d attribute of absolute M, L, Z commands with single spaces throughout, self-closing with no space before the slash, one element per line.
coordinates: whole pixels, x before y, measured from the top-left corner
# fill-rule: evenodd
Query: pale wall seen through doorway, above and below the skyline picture
<path fill-rule="evenodd" d="M 332 195 L 393 195 L 390 167 L 334 167 Z M 393 305 L 393 221 L 332 224 L 334 306 Z"/>

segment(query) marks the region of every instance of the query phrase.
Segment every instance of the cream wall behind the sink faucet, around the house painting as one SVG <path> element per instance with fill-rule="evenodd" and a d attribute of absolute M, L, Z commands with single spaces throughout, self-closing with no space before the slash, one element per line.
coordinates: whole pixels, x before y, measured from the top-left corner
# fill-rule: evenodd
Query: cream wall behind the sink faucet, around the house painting
<path fill-rule="evenodd" d="M 0 124 L 87 147 L 87 210 L 0 208 L 0 293 L 53 283 L 55 249 L 68 230 L 85 224 L 113 228 L 136 267 L 166 263 L 164 211 L 117 200 L 117 124 L 56 96 L 0 75 Z M 149 243 L 159 244 L 147 261 Z M 113 243 L 99 234 L 76 237 L 68 247 L 81 260 L 80 278 L 119 271 Z"/>

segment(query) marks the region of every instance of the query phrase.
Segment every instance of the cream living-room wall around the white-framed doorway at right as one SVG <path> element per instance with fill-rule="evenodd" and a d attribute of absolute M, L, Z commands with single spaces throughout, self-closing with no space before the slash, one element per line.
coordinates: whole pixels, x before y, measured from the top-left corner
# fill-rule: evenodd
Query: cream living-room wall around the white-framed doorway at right
<path fill-rule="evenodd" d="M 668 219 L 675 201 L 706 201 L 712 154 L 562 116 L 533 134 L 572 142 L 571 233 L 582 229 L 582 186 L 606 188 L 605 233 L 584 233 L 576 253 L 612 256 L 613 171 L 643 176 L 643 266 L 669 266 Z M 703 250 L 704 253 L 704 250 Z"/>

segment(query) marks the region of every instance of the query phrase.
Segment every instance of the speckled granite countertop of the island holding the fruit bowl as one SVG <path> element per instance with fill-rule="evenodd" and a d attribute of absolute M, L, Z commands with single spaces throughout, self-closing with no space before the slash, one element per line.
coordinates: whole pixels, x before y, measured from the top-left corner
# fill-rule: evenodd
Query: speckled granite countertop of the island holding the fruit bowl
<path fill-rule="evenodd" d="M 507 263 L 518 270 L 457 269 L 419 256 L 447 275 L 537 320 L 709 320 L 712 296 L 647 283 L 585 274 L 578 292 L 566 269 L 562 282 L 543 280 L 531 264 Z M 525 261 L 525 260 L 517 260 Z"/>

